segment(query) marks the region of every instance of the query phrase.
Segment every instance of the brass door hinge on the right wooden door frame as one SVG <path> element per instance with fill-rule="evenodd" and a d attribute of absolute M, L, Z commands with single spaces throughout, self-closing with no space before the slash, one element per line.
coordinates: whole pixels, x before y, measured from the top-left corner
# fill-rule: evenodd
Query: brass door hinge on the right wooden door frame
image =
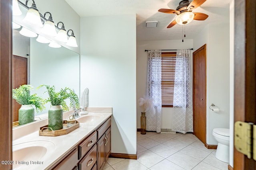
<path fill-rule="evenodd" d="M 256 160 L 256 125 L 242 121 L 235 122 L 234 145 L 236 150 Z"/>

